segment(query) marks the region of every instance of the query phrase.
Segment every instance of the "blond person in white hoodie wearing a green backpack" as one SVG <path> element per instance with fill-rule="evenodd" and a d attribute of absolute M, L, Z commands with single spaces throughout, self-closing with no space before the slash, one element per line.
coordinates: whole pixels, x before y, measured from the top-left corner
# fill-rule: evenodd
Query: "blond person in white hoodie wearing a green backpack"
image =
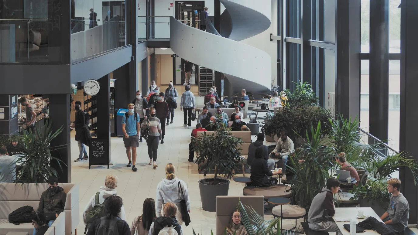
<path fill-rule="evenodd" d="M 104 186 L 101 186 L 99 192 L 95 193 L 90 201 L 87 203 L 83 212 L 83 222 L 87 228 L 94 220 L 99 219 L 104 215 L 104 202 L 112 195 L 117 195 L 117 177 L 114 175 L 108 175 L 104 179 Z M 119 214 L 117 214 L 121 220 L 126 220 L 125 209 L 123 206 L 120 208 Z"/>

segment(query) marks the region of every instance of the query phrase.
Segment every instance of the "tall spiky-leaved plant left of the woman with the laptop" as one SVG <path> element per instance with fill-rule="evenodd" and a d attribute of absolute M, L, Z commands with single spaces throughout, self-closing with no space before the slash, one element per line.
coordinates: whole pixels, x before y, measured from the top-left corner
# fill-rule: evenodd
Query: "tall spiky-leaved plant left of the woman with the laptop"
<path fill-rule="evenodd" d="M 321 122 L 316 127 L 312 125 L 311 134 L 309 135 L 306 131 L 306 143 L 288 159 L 291 164 L 287 165 L 287 169 L 296 174 L 290 183 L 292 184 L 291 200 L 306 209 L 310 207 L 319 190 L 326 185 L 330 177 L 329 170 L 333 166 L 332 157 L 335 156 L 335 150 L 321 145 L 322 135 Z M 305 161 L 299 163 L 302 158 Z"/>

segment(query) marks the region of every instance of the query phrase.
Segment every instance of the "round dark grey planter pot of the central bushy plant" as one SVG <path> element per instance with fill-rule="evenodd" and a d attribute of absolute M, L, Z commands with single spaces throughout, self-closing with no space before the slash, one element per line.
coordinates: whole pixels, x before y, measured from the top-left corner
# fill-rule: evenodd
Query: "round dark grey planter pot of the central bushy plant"
<path fill-rule="evenodd" d="M 216 212 L 216 196 L 228 196 L 229 190 L 229 180 L 227 179 L 217 179 L 218 182 L 224 182 L 225 184 L 205 184 L 205 182 L 213 182 L 213 180 L 213 178 L 199 180 L 202 209 L 210 212 Z"/>

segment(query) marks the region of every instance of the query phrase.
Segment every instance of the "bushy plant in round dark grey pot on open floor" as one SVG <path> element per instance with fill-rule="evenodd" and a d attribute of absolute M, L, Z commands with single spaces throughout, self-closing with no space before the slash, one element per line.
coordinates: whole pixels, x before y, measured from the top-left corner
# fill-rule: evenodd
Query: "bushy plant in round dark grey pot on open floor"
<path fill-rule="evenodd" d="M 239 169 L 239 164 L 244 161 L 240 153 L 240 144 L 243 141 L 232 135 L 230 131 L 230 128 L 221 127 L 212 135 L 205 132 L 197 138 L 192 137 L 199 170 L 204 171 L 204 177 L 214 170 L 213 178 L 199 181 L 202 208 L 205 211 L 216 211 L 216 196 L 228 195 L 228 179 L 231 179 L 234 172 Z M 219 178 L 219 175 L 224 175 L 227 179 Z"/>

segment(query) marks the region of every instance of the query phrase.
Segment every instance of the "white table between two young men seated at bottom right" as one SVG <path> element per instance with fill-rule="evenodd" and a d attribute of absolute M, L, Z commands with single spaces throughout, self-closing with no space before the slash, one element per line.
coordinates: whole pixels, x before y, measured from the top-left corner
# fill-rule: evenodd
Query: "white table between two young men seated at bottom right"
<path fill-rule="evenodd" d="M 359 214 L 359 210 L 362 210 L 365 216 L 375 217 L 378 221 L 383 222 L 380 220 L 380 216 L 376 215 L 375 211 L 372 207 L 339 207 L 335 208 L 335 215 L 332 217 L 335 221 L 335 218 L 351 218 L 352 220 L 356 220 L 356 223 L 364 221 L 365 219 L 357 219 L 356 216 Z M 350 235 L 350 232 L 344 229 L 345 224 L 349 224 L 350 222 L 336 222 L 338 228 L 342 232 L 343 235 Z M 379 234 L 373 230 L 364 230 L 365 232 L 362 235 L 376 235 Z M 335 235 L 335 232 L 329 232 L 330 235 Z"/>

